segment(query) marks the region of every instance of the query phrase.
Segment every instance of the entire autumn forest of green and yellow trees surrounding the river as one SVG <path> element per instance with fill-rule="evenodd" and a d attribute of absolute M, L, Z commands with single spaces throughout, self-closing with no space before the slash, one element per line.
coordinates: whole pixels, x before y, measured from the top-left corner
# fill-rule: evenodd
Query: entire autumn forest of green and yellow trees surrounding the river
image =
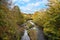
<path fill-rule="evenodd" d="M 30 40 L 38 40 L 35 30 L 30 30 L 32 25 L 27 23 L 32 20 L 37 28 L 42 28 L 44 40 L 60 40 L 60 1 L 49 0 L 48 8 L 36 11 L 33 14 L 21 12 L 18 6 L 10 8 L 11 3 L 0 0 L 0 40 L 21 40 L 24 29 L 28 30 Z"/>

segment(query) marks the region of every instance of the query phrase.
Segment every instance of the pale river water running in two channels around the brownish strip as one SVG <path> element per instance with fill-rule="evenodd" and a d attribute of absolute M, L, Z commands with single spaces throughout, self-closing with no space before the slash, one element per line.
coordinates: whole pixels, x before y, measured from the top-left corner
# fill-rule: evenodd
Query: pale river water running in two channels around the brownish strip
<path fill-rule="evenodd" d="M 41 29 L 35 27 L 36 25 L 32 21 L 28 21 L 28 22 L 30 22 L 32 25 L 34 25 L 34 27 L 32 27 L 31 29 L 36 30 L 37 40 L 45 40 L 44 35 L 43 35 L 43 31 Z M 29 37 L 27 31 L 28 30 L 25 29 L 24 35 L 22 36 L 21 40 L 30 40 L 30 37 Z"/>

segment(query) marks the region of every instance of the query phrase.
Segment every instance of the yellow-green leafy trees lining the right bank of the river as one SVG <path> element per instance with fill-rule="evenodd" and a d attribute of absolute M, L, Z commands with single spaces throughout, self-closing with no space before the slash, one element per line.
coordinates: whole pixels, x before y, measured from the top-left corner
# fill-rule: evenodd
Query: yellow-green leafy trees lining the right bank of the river
<path fill-rule="evenodd" d="M 50 0 L 49 8 L 44 12 L 36 12 L 33 21 L 44 27 L 48 40 L 60 40 L 60 2 Z"/>

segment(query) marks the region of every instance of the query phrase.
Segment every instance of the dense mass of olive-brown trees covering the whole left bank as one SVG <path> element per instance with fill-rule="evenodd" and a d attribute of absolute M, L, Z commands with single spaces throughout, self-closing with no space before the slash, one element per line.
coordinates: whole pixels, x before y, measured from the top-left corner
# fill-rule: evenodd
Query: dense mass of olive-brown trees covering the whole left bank
<path fill-rule="evenodd" d="M 2 40 L 20 40 L 20 25 L 24 22 L 19 9 L 12 12 L 4 5 L 0 6 L 0 38 Z"/>

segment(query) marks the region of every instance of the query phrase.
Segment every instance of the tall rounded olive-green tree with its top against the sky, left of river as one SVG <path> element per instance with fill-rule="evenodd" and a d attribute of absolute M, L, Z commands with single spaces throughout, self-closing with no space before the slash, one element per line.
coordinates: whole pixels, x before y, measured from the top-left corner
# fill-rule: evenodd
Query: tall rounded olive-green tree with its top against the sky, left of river
<path fill-rule="evenodd" d="M 20 11 L 18 6 L 15 6 L 12 9 L 12 13 L 13 13 L 13 17 L 14 17 L 16 23 L 19 24 L 19 25 L 23 24 L 24 17 L 23 17 L 23 14 L 21 13 L 21 11 Z"/>

